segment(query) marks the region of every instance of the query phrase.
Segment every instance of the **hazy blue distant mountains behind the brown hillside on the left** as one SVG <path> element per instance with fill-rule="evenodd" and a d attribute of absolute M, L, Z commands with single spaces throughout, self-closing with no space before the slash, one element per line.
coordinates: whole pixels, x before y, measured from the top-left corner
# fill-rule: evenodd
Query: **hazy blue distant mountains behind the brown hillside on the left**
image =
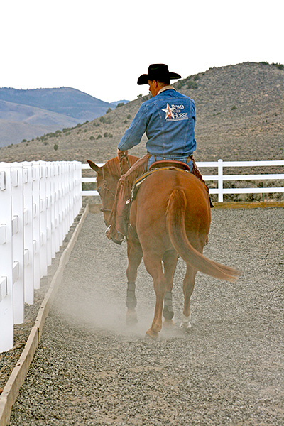
<path fill-rule="evenodd" d="M 0 146 L 92 121 L 128 101 L 104 102 L 70 87 L 0 88 Z"/>

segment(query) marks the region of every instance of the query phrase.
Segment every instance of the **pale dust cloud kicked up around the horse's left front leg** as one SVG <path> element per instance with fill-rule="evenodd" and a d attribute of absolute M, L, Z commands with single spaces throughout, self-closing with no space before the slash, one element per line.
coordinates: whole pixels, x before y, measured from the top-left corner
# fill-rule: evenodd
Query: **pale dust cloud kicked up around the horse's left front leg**
<path fill-rule="evenodd" d="M 99 329 L 124 336 L 144 337 L 151 327 L 155 309 L 153 283 L 148 285 L 147 293 L 151 293 L 151 300 L 143 294 L 143 289 L 136 288 L 138 323 L 131 326 L 126 325 L 126 283 L 107 285 L 96 277 L 90 288 L 85 280 L 65 280 L 53 309 L 69 324 L 91 332 Z"/>

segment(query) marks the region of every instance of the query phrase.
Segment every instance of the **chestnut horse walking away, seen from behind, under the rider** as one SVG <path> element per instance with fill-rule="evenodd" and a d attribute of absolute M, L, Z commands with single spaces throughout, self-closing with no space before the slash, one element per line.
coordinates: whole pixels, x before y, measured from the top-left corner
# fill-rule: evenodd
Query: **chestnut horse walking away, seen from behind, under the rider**
<path fill-rule="evenodd" d="M 129 155 L 129 163 L 138 158 Z M 99 167 L 89 165 L 97 172 L 97 188 L 102 199 L 104 222 L 109 224 L 114 204 L 116 185 L 127 165 L 119 165 L 118 158 Z M 146 334 L 158 337 L 165 325 L 173 324 L 172 288 L 175 267 L 180 256 L 187 264 L 183 280 L 184 309 L 181 327 L 190 325 L 190 297 L 197 271 L 223 280 L 236 280 L 239 272 L 220 265 L 202 255 L 210 226 L 209 195 L 203 183 L 192 173 L 177 169 L 158 169 L 144 180 L 131 203 L 126 276 L 128 280 L 126 320 L 136 321 L 135 281 L 143 257 L 146 270 L 153 278 L 156 295 L 155 315 Z M 164 305 L 164 309 L 163 309 Z"/>

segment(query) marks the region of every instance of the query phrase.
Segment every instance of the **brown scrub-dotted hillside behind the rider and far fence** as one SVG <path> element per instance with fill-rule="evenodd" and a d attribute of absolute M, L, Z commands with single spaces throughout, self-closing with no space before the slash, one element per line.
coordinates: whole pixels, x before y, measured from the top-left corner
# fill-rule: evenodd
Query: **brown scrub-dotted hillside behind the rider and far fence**
<path fill-rule="evenodd" d="M 284 70 L 246 62 L 211 68 L 175 82 L 195 99 L 195 159 L 273 160 L 284 158 Z M 104 116 L 64 131 L 0 149 L 2 161 L 80 160 L 103 162 L 116 155 L 141 97 Z M 75 108 L 76 106 L 74 106 Z M 143 155 L 146 136 L 133 155 Z"/>

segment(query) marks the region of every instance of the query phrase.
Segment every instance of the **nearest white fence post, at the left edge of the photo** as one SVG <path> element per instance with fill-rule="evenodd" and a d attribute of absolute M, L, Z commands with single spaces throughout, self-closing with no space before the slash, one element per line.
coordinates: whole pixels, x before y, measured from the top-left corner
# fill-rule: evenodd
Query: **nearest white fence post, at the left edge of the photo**
<path fill-rule="evenodd" d="M 0 163 L 0 352 L 13 347 L 11 165 Z"/>

